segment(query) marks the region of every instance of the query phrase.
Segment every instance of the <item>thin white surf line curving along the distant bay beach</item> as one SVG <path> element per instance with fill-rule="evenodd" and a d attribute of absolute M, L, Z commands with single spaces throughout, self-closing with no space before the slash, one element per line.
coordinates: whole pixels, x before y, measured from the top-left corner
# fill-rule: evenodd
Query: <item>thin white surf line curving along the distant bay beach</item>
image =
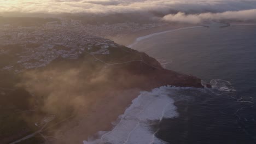
<path fill-rule="evenodd" d="M 145 36 L 136 38 L 135 41 L 134 41 L 132 44 L 127 45 L 127 47 L 130 47 L 130 48 L 131 48 L 132 46 L 136 45 L 139 41 L 142 41 L 142 40 L 144 40 L 144 39 L 148 39 L 148 38 L 154 37 L 154 36 L 156 36 L 156 35 L 165 34 L 165 33 L 170 33 L 170 32 L 176 32 L 176 31 L 181 31 L 181 30 L 190 29 L 190 28 L 199 28 L 199 27 L 203 27 L 203 26 L 183 27 L 183 28 L 172 29 L 172 30 L 168 30 L 168 31 L 164 31 L 164 32 L 158 32 L 158 33 L 148 34 L 148 35 L 145 35 Z"/>

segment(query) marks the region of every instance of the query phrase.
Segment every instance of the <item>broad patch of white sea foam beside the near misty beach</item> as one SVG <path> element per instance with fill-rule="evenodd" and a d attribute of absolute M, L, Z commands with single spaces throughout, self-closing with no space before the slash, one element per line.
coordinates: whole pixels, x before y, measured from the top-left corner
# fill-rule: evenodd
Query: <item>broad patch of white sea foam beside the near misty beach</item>
<path fill-rule="evenodd" d="M 169 96 L 172 88 L 176 89 L 168 86 L 155 88 L 152 92 L 141 92 L 119 117 L 120 122 L 112 131 L 104 133 L 96 140 L 84 141 L 84 144 L 166 143 L 155 136 L 157 131 L 152 130 L 150 125 L 161 122 L 163 118 L 178 117 L 177 107 Z"/>

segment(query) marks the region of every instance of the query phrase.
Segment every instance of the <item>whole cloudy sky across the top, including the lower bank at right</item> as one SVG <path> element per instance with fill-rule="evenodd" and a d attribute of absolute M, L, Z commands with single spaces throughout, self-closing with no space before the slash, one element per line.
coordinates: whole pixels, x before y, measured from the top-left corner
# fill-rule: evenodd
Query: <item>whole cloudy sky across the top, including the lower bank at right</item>
<path fill-rule="evenodd" d="M 256 0 L 0 0 L 0 15 L 61 13 L 164 14 L 164 21 L 255 20 Z"/>

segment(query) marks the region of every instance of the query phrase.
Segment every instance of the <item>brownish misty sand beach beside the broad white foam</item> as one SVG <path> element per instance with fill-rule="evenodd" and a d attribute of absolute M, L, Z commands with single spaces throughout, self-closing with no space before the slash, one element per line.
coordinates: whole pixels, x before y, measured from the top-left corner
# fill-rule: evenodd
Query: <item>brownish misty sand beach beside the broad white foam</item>
<path fill-rule="evenodd" d="M 100 131 L 110 131 L 114 128 L 113 123 L 132 104 L 142 89 L 127 89 L 124 91 L 109 91 L 98 95 L 100 98 L 90 108 L 79 111 L 84 115 L 78 115 L 63 127 L 54 132 L 60 139 L 53 139 L 53 143 L 83 143 L 91 139 Z"/>

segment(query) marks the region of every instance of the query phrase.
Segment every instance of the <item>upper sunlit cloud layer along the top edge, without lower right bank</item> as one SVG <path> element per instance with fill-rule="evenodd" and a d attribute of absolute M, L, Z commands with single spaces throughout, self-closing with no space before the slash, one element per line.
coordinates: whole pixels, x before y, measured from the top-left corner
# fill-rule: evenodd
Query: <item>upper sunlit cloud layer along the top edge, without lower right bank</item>
<path fill-rule="evenodd" d="M 0 14 L 4 13 L 131 13 L 157 11 L 165 15 L 170 11 L 186 14 L 223 13 L 225 11 L 256 8 L 253 0 L 11 0 L 0 1 Z"/>

